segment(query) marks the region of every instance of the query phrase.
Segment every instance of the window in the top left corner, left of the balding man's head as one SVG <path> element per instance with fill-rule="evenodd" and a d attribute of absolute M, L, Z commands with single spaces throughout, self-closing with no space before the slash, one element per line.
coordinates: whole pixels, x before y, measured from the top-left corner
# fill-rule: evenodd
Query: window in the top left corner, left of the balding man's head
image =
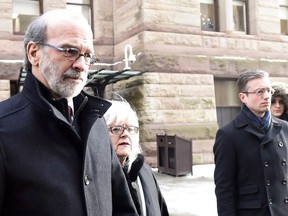
<path fill-rule="evenodd" d="M 13 0 L 13 33 L 24 34 L 31 21 L 39 15 L 38 0 Z"/>

